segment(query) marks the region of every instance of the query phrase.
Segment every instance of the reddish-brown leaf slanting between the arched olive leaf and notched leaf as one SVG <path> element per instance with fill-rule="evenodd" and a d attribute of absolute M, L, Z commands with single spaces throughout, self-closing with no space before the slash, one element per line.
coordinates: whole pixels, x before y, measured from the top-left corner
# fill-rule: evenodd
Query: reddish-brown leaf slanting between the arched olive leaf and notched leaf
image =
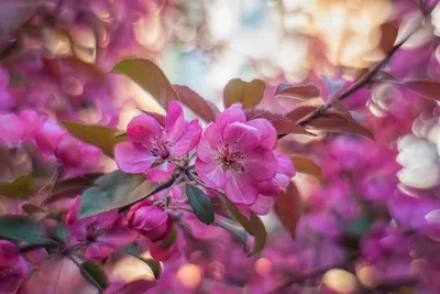
<path fill-rule="evenodd" d="M 200 95 L 185 86 L 173 85 L 173 87 L 177 91 L 180 101 L 189 107 L 194 113 L 199 116 L 206 122 L 216 120 L 216 113 L 211 106 Z"/>

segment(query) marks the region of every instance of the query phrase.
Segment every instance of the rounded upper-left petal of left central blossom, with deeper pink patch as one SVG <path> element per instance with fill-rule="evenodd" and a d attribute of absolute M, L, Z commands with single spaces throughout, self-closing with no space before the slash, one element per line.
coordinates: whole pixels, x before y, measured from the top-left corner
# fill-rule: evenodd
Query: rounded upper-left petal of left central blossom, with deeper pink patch
<path fill-rule="evenodd" d="M 127 126 L 127 133 L 131 141 L 150 148 L 155 139 L 162 135 L 162 127 L 154 118 L 142 113 L 132 118 Z"/>

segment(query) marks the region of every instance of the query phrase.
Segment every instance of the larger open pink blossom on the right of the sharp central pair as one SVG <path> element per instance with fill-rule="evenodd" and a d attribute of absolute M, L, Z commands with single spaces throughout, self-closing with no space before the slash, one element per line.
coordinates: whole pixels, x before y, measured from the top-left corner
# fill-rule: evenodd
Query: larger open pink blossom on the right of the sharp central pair
<path fill-rule="evenodd" d="M 258 182 L 276 175 L 275 145 L 276 131 L 267 120 L 246 121 L 241 105 L 233 105 L 206 128 L 197 146 L 197 174 L 231 202 L 252 205 Z"/>

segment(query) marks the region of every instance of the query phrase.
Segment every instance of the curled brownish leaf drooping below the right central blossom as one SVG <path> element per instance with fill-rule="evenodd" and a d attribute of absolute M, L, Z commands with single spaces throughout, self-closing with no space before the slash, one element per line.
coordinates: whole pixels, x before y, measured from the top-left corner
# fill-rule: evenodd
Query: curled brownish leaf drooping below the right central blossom
<path fill-rule="evenodd" d="M 240 213 L 239 208 L 233 203 L 231 203 L 226 196 L 223 198 L 233 217 L 255 238 L 254 246 L 248 255 L 251 257 L 262 251 L 267 240 L 267 232 L 263 221 L 252 211 L 251 219 L 246 218 L 242 213 Z"/>

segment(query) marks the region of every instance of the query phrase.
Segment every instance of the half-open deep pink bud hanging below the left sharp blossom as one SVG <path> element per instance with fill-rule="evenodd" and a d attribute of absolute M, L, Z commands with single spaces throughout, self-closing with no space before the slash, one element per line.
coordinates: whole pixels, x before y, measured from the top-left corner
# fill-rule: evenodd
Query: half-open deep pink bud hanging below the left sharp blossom
<path fill-rule="evenodd" d="M 165 239 L 173 229 L 169 214 L 148 200 L 133 205 L 127 214 L 130 227 L 153 242 Z"/>

